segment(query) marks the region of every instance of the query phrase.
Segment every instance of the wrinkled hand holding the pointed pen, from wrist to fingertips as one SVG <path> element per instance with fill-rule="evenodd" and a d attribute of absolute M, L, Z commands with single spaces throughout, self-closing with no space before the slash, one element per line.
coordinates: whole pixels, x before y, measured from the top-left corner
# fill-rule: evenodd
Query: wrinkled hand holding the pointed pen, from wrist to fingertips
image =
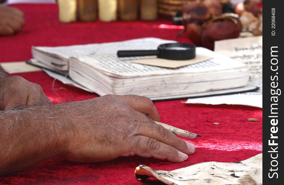
<path fill-rule="evenodd" d="M 68 160 L 100 162 L 138 155 L 183 162 L 195 151 L 193 144 L 153 122 L 160 118 L 147 97 L 106 95 L 69 106 L 63 120 L 73 130 Z"/>

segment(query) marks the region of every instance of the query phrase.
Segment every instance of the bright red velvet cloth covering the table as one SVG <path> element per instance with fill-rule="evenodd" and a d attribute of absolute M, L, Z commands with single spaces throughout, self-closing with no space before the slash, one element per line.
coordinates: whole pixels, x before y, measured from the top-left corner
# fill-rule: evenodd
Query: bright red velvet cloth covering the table
<path fill-rule="evenodd" d="M 154 22 L 59 23 L 55 4 L 18 4 L 24 11 L 26 25 L 17 34 L 0 37 L 0 62 L 31 58 L 31 46 L 60 46 L 121 41 L 142 37 L 174 39 L 180 27 L 167 26 L 169 20 Z M 191 43 L 182 35 L 177 41 Z M 54 81 L 44 72 L 17 74 L 42 86 L 54 103 L 86 100 L 98 95 Z M 185 101 L 185 100 L 183 100 Z M 56 157 L 26 171 L 1 177 L 0 184 L 143 184 L 134 178 L 140 164 L 153 169 L 174 170 L 205 162 L 236 162 L 262 152 L 262 109 L 240 105 L 183 104 L 181 100 L 160 101 L 154 105 L 161 121 L 200 134 L 190 140 L 196 152 L 182 163 L 170 163 L 137 156 L 121 157 L 98 163 L 76 163 Z M 258 122 L 247 121 L 255 117 Z M 214 125 L 219 122 L 220 125 Z M 189 141 L 189 139 L 185 139 Z M 5 143 L 1 143 L 5 144 Z M 148 184 L 161 184 L 149 179 Z"/>

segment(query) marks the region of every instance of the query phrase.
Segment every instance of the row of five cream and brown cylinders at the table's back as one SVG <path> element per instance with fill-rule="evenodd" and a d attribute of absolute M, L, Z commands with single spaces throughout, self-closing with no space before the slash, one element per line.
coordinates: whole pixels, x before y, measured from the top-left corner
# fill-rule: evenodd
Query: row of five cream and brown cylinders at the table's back
<path fill-rule="evenodd" d="M 92 22 L 98 17 L 103 22 L 157 19 L 158 0 L 57 0 L 59 20 Z"/>

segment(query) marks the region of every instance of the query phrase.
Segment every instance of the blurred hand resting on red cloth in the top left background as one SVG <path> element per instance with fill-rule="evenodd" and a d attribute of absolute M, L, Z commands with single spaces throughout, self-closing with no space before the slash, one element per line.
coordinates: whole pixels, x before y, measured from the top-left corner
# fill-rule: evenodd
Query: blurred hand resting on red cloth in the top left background
<path fill-rule="evenodd" d="M 24 24 L 24 13 L 21 10 L 10 6 L 0 6 L 0 36 L 13 35 Z"/>

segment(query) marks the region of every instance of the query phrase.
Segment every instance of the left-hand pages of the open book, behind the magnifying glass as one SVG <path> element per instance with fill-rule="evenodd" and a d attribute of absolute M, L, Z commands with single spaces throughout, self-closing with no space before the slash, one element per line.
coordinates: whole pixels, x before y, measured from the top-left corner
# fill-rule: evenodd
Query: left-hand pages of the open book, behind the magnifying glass
<path fill-rule="evenodd" d="M 70 57 L 89 55 L 115 55 L 118 50 L 153 50 L 160 44 L 175 43 L 173 40 L 158 38 L 132 39 L 110 43 L 92 43 L 58 47 L 32 47 L 32 55 L 36 60 L 45 61 L 47 65 L 59 70 L 69 70 L 68 60 Z"/>

